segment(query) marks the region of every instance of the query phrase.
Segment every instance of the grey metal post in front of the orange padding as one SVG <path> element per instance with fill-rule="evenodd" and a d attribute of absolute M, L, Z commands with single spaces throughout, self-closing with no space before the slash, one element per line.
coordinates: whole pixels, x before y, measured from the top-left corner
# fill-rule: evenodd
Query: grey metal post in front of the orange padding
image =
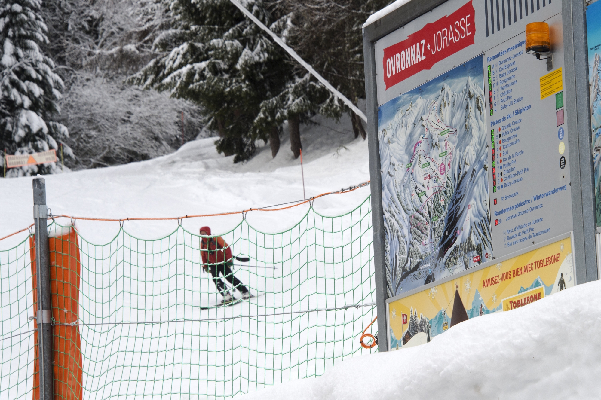
<path fill-rule="evenodd" d="M 50 255 L 47 231 L 48 208 L 46 207 L 46 181 L 44 178 L 35 178 L 33 189 L 40 400 L 52 400 L 52 324 L 50 324 L 52 306 L 50 303 Z"/>

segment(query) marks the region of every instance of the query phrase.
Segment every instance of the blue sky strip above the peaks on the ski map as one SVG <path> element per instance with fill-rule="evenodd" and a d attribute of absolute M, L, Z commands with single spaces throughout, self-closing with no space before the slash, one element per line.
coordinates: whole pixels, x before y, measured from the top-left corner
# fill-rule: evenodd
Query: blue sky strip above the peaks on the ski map
<path fill-rule="evenodd" d="M 599 4 L 601 4 L 601 2 Z M 405 108 L 409 105 L 409 102 L 415 103 L 415 100 L 419 97 L 435 100 L 441 91 L 442 83 L 447 83 L 451 90 L 455 92 L 460 91 L 465 88 L 465 81 L 469 76 L 476 85 L 483 88 L 484 76 L 482 68 L 483 58 L 482 56 L 477 56 L 462 65 L 457 65 L 457 67 L 452 70 L 429 80 L 415 89 L 398 95 L 378 108 L 378 129 L 388 124 L 401 108 Z"/>

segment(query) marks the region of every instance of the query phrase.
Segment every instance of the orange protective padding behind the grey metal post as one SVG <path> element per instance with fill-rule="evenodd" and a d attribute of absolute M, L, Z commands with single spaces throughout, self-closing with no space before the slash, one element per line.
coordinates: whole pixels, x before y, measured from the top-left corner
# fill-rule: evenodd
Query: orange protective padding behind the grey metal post
<path fill-rule="evenodd" d="M 73 228 L 69 233 L 48 239 L 50 252 L 50 298 L 55 323 L 72 324 L 78 321 L 79 276 L 81 263 L 78 235 Z M 35 237 L 29 237 L 31 247 L 31 277 L 34 297 L 34 315 L 37 312 L 37 275 L 35 265 Z M 37 321 L 34 321 L 37 329 Z M 40 398 L 38 375 L 38 333 L 34 332 L 35 360 L 33 400 Z M 81 336 L 78 326 L 53 327 L 52 364 L 55 399 L 82 399 Z"/>

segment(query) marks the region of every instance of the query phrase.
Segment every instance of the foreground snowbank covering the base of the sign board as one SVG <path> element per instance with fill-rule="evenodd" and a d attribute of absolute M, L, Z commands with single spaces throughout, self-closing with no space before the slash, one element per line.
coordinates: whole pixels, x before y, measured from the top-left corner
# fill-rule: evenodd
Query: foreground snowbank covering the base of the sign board
<path fill-rule="evenodd" d="M 601 282 L 451 328 L 429 344 L 346 360 L 243 400 L 598 399 Z"/>

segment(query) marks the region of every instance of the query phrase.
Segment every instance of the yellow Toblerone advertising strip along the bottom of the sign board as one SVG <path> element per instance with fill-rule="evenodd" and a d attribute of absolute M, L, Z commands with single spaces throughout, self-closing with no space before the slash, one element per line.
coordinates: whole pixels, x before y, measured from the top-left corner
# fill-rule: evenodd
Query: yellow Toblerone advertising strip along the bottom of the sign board
<path fill-rule="evenodd" d="M 528 306 L 575 285 L 567 237 L 388 303 L 391 350 L 429 342 L 456 324 Z"/>

